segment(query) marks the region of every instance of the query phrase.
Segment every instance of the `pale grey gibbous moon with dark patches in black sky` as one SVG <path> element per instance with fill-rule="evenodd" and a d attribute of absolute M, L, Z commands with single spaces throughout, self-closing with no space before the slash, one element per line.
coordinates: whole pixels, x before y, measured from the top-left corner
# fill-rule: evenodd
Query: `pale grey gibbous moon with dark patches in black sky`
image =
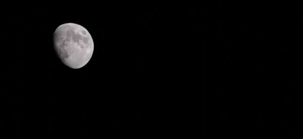
<path fill-rule="evenodd" d="M 86 65 L 93 53 L 92 37 L 78 24 L 60 25 L 53 34 L 53 43 L 57 56 L 73 69 Z"/>

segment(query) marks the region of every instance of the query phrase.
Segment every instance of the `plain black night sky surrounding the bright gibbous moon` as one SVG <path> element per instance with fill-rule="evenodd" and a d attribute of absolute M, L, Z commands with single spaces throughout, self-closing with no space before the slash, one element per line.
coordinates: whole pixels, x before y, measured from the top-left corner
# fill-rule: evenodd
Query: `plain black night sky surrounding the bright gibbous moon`
<path fill-rule="evenodd" d="M 298 131 L 293 47 L 303 18 L 286 5 L 218 2 L 3 11 L 1 130 L 11 138 L 289 138 Z M 53 50 L 64 23 L 93 38 L 80 69 Z"/>

